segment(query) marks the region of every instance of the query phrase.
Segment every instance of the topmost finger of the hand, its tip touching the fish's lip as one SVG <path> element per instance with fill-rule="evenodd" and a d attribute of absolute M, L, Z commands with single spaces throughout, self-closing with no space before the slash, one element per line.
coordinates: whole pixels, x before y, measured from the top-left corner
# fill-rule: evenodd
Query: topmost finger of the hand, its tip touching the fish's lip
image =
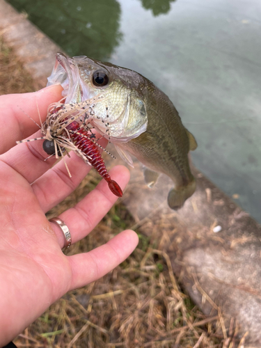
<path fill-rule="evenodd" d="M 0 154 L 38 130 L 33 120 L 38 124 L 40 118 L 42 122 L 45 120 L 49 104 L 61 100 L 62 90 L 61 86 L 54 85 L 38 92 L 0 96 Z"/>

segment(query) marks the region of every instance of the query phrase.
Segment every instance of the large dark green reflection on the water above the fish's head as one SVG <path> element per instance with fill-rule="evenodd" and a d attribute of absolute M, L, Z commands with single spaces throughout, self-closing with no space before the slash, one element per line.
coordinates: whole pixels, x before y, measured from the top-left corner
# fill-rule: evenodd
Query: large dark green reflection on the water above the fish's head
<path fill-rule="evenodd" d="M 70 56 L 111 56 L 122 37 L 116 0 L 8 0 Z"/>

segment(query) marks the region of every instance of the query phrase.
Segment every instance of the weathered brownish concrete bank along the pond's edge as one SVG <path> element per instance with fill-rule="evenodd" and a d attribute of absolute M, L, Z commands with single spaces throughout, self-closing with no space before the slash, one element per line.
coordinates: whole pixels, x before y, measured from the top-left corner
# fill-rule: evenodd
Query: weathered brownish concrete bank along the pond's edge
<path fill-rule="evenodd" d="M 33 77 L 35 89 L 45 86 L 61 49 L 3 0 L 0 31 Z M 260 347 L 261 228 L 201 173 L 194 174 L 196 193 L 173 212 L 166 204 L 171 181 L 162 177 L 148 189 L 135 162 L 123 203 L 145 234 L 161 231 L 175 274 L 205 314 L 222 313 L 228 340 L 236 332 L 248 347 Z"/>

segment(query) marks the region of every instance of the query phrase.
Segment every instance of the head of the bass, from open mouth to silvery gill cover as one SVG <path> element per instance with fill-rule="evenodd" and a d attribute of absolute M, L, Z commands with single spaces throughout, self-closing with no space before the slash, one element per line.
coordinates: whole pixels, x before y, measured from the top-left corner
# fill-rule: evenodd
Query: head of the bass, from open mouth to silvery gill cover
<path fill-rule="evenodd" d="M 113 143 L 125 143 L 145 132 L 148 117 L 143 99 L 130 86 L 128 74 L 120 77 L 117 73 L 118 67 L 110 63 L 57 53 L 47 86 L 61 84 L 63 104 L 70 115 L 84 115 L 88 127 L 94 127 Z M 95 79 L 104 79 L 105 83 L 98 84 Z"/>

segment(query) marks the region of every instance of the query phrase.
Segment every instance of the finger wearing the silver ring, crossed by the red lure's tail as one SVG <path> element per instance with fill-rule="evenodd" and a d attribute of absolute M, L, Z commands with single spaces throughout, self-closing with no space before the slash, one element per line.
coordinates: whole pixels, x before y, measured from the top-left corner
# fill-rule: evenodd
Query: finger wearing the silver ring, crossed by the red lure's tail
<path fill-rule="evenodd" d="M 129 181 L 129 171 L 125 166 L 116 166 L 109 171 L 109 174 L 113 180 L 118 182 L 122 190 L 125 189 Z M 75 207 L 63 212 L 59 218 L 68 226 L 72 235 L 72 243 L 86 237 L 104 215 L 109 212 L 109 209 L 116 203 L 117 199 L 118 197 L 109 190 L 107 182 L 102 180 Z M 60 247 L 63 248 L 65 240 L 60 228 L 54 223 L 52 223 L 52 228 L 56 232 Z"/>

